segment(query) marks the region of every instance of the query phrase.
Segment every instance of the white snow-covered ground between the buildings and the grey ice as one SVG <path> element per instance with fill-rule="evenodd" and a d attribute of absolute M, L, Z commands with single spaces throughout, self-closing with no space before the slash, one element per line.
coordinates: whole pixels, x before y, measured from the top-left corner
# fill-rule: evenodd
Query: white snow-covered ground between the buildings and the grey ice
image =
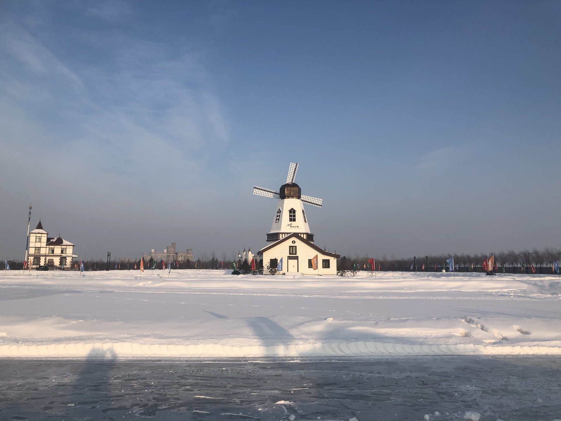
<path fill-rule="evenodd" d="M 0 357 L 561 355 L 546 275 L 2 272 Z"/>

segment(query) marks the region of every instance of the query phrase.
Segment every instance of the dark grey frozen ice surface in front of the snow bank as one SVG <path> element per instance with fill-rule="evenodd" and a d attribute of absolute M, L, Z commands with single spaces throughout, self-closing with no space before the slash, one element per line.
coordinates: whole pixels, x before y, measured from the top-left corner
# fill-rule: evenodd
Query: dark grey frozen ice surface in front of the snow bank
<path fill-rule="evenodd" d="M 422 420 L 438 409 L 441 415 L 431 420 L 458 421 L 470 411 L 481 414 L 480 421 L 551 421 L 561 414 L 559 378 L 558 356 L 298 363 L 10 358 L 0 359 L 0 419 L 220 421 L 295 415 L 296 420 L 397 421 Z M 542 402 L 536 402 L 538 393 Z M 279 401 L 291 404 L 283 408 Z"/>

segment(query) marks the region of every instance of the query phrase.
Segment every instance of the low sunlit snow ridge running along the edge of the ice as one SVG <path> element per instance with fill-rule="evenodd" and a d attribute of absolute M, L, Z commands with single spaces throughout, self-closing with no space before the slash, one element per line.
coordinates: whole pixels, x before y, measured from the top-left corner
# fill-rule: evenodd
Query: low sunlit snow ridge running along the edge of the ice
<path fill-rule="evenodd" d="M 292 356 L 388 355 L 561 355 L 561 347 L 496 345 L 407 345 L 384 342 L 325 342 L 300 345 L 226 346 L 220 344 L 146 345 L 130 342 L 96 344 L 3 345 L 0 358 L 247 358 Z"/>

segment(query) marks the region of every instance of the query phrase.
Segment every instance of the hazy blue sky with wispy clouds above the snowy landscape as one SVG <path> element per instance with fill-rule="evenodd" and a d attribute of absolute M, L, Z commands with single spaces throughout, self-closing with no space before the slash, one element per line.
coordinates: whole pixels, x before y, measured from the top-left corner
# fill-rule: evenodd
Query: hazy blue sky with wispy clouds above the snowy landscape
<path fill-rule="evenodd" d="M 265 244 L 300 163 L 316 244 L 559 246 L 559 2 L 0 4 L 0 257 Z"/>

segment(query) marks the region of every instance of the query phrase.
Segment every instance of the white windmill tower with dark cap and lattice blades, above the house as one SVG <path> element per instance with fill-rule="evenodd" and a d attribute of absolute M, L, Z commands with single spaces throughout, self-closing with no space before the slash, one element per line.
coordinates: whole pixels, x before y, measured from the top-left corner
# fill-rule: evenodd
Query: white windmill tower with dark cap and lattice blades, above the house
<path fill-rule="evenodd" d="M 278 241 L 291 234 L 298 234 L 308 241 L 314 241 L 304 211 L 304 203 L 321 208 L 322 199 L 302 195 L 302 189 L 294 179 L 298 163 L 290 163 L 286 184 L 280 186 L 279 191 L 253 187 L 253 194 L 268 198 L 279 199 L 273 219 L 273 226 L 267 234 L 267 241 Z"/>

